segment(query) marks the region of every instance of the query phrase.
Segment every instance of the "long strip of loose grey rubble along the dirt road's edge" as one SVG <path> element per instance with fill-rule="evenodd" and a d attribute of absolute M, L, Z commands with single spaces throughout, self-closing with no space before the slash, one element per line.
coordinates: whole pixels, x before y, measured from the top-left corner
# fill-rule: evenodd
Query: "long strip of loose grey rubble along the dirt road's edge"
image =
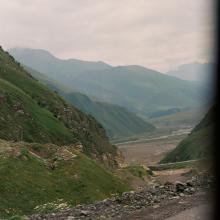
<path fill-rule="evenodd" d="M 35 215 L 30 219 L 121 219 L 123 215 L 129 215 L 146 206 L 152 206 L 156 209 L 161 206 L 160 203 L 162 200 L 175 199 L 175 202 L 182 203 L 183 196 L 191 196 L 198 189 L 204 189 L 207 183 L 208 181 L 204 181 L 203 177 L 196 176 L 193 181 L 190 180 L 186 183 L 175 182 L 175 184 L 172 184 L 167 182 L 163 185 L 157 184 L 156 187 L 153 185 L 141 191 L 124 192 L 122 196 L 112 195 L 114 197 L 93 204 L 77 205 L 74 208 L 68 209 L 68 211 L 65 210 L 62 213 L 56 213 L 55 216 L 53 214 Z"/>

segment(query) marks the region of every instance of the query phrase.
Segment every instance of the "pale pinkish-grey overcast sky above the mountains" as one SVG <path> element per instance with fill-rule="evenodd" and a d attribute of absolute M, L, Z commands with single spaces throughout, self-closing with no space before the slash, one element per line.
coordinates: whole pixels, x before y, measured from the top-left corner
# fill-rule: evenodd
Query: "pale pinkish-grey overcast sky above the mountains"
<path fill-rule="evenodd" d="M 212 0 L 0 0 L 0 45 L 162 72 L 212 60 Z"/>

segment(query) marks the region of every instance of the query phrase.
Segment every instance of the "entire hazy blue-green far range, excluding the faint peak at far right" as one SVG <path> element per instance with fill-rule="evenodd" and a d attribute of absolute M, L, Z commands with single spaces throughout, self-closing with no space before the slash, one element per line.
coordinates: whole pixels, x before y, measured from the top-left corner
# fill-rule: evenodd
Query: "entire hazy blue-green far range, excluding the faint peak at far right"
<path fill-rule="evenodd" d="M 210 102 L 210 88 L 141 66 L 112 67 L 92 62 L 93 69 L 86 70 L 80 65 L 74 67 L 73 60 L 60 60 L 42 50 L 17 48 L 9 52 L 22 64 L 64 86 L 72 87 L 98 101 L 120 105 L 145 117 L 149 112 L 196 107 Z M 33 63 L 34 59 L 39 61 Z M 85 61 L 74 62 L 82 64 Z M 89 64 L 91 66 L 91 62 Z"/>

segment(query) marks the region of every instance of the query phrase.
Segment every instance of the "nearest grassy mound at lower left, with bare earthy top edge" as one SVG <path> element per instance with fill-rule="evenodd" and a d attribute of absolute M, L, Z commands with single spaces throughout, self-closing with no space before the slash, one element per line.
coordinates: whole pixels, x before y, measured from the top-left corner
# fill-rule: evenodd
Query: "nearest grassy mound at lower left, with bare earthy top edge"
<path fill-rule="evenodd" d="M 49 144 L 0 140 L 1 217 L 31 214 L 34 207 L 57 199 L 71 206 L 129 190 L 120 179 L 84 154 L 61 149 Z M 48 166 L 52 162 L 55 169 Z"/>

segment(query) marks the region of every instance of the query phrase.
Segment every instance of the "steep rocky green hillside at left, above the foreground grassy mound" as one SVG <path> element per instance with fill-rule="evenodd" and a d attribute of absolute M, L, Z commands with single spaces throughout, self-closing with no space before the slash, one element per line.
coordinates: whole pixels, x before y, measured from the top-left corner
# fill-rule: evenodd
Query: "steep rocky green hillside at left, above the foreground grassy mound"
<path fill-rule="evenodd" d="M 86 154 L 114 165 L 117 150 L 103 127 L 35 80 L 0 49 L 0 138 L 54 144 L 81 142 Z"/>

